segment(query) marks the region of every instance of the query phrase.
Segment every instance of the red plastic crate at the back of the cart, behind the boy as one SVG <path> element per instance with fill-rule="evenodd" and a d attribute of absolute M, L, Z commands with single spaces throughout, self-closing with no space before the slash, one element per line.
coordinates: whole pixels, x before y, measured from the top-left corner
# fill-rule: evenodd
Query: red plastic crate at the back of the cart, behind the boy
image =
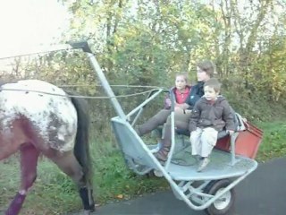
<path fill-rule="evenodd" d="M 246 130 L 240 132 L 235 141 L 235 153 L 255 159 L 258 147 L 262 141 L 263 131 L 249 123 L 245 123 L 245 126 Z M 230 139 L 230 137 L 224 137 L 216 143 L 215 148 L 230 151 Z"/>

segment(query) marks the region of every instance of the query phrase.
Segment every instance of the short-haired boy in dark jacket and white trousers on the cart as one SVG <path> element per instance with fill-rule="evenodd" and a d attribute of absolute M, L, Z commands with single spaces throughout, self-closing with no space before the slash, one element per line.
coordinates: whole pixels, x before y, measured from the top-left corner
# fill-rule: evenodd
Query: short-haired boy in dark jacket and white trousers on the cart
<path fill-rule="evenodd" d="M 231 107 L 226 99 L 219 96 L 221 84 L 211 78 L 204 84 L 205 95 L 198 100 L 189 120 L 189 140 L 192 155 L 200 160 L 198 172 L 206 168 L 209 155 L 217 141 L 217 133 L 226 130 L 232 134 L 235 124 Z"/>

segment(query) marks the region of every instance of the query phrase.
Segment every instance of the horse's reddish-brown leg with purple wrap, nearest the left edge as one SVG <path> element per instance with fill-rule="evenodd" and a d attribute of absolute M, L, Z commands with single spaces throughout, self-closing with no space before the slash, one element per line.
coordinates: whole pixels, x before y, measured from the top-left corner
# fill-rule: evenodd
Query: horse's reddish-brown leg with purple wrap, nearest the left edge
<path fill-rule="evenodd" d="M 29 188 L 37 177 L 38 150 L 32 144 L 21 146 L 21 187 L 10 203 L 5 215 L 17 215 L 25 201 Z"/>

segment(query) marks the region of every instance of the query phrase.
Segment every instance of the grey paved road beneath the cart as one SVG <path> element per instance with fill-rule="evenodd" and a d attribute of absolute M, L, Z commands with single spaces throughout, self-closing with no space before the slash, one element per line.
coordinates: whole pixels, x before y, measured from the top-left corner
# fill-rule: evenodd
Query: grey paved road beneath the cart
<path fill-rule="evenodd" d="M 235 187 L 235 210 L 231 215 L 286 214 L 286 158 L 259 164 L 257 170 Z M 97 208 L 95 215 L 205 215 L 177 200 L 172 191 Z"/>

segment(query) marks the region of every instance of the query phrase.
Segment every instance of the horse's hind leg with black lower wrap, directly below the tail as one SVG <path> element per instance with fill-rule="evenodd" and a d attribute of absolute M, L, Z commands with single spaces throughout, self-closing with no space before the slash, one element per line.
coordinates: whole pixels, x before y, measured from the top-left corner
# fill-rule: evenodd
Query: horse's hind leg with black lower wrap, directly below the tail
<path fill-rule="evenodd" d="M 52 159 L 55 164 L 79 186 L 80 198 L 85 212 L 88 214 L 88 211 L 95 211 L 92 193 L 88 190 L 88 183 L 85 180 L 80 163 L 75 158 L 73 152 L 58 152 L 53 157 L 49 157 L 49 159 Z"/>

